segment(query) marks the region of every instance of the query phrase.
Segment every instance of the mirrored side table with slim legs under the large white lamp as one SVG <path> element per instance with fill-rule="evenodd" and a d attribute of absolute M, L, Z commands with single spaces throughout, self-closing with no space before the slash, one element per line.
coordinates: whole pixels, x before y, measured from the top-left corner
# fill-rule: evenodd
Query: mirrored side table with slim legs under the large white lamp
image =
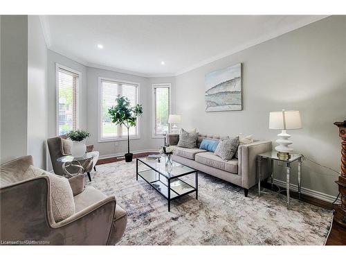
<path fill-rule="evenodd" d="M 290 177 L 291 177 L 291 164 L 295 161 L 298 162 L 298 198 L 300 199 L 300 188 L 301 188 L 301 174 L 302 174 L 302 159 L 303 155 L 297 153 L 291 153 L 291 157 L 282 158 L 277 156 L 277 152 L 275 150 L 267 153 L 261 153 L 257 155 L 257 176 L 259 177 L 258 182 L 258 196 L 261 196 L 261 163 L 263 159 L 267 159 L 271 162 L 271 188 L 273 190 L 273 180 L 274 180 L 274 162 L 282 162 L 286 167 L 286 193 L 287 193 L 287 209 L 289 209 L 290 195 Z"/>

